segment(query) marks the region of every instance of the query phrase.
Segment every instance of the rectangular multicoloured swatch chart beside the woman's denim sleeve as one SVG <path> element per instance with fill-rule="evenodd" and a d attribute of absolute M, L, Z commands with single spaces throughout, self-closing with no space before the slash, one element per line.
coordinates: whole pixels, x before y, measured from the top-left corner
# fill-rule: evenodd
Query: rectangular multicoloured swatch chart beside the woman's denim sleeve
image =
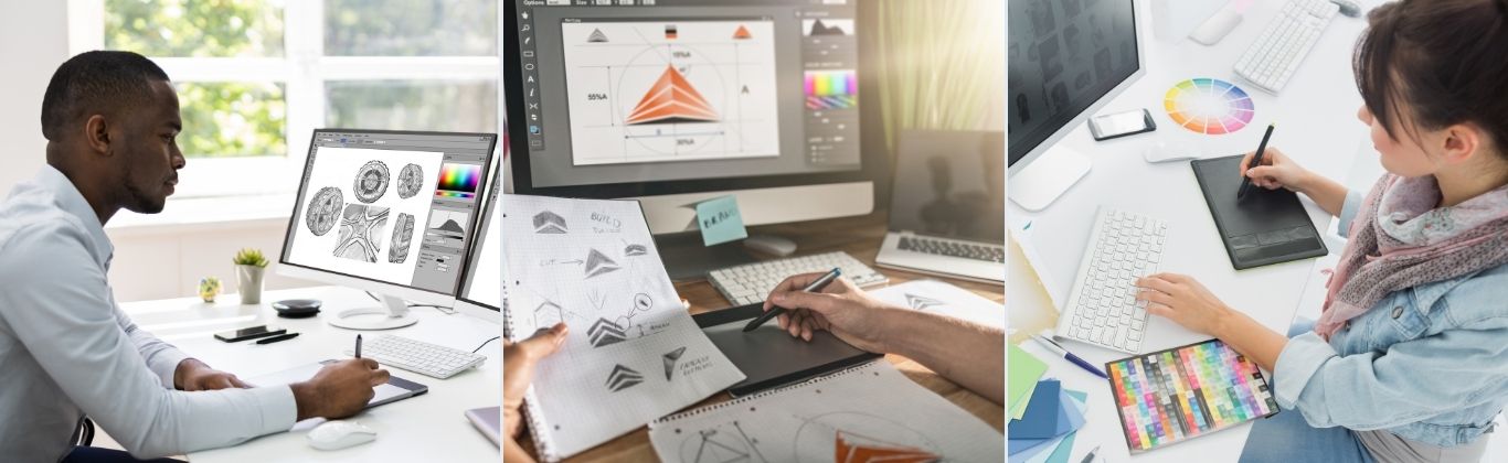
<path fill-rule="evenodd" d="M 1131 452 L 1277 413 L 1256 363 L 1218 339 L 1105 363 Z"/>

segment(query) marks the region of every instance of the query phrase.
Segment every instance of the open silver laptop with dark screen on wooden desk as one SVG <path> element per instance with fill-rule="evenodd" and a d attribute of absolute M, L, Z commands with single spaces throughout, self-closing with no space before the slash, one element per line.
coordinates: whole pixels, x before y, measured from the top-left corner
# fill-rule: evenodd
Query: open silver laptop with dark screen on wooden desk
<path fill-rule="evenodd" d="M 1003 131 L 902 131 L 881 267 L 1006 279 Z"/>

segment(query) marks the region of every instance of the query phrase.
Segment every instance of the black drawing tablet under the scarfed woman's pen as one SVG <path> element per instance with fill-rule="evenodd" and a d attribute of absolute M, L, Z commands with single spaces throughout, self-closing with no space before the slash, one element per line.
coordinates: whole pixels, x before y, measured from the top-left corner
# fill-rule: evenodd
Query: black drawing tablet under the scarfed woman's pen
<path fill-rule="evenodd" d="M 1329 253 L 1297 193 L 1255 189 L 1250 198 L 1237 201 L 1240 164 L 1241 155 L 1190 163 L 1231 255 L 1231 265 L 1246 270 Z"/>

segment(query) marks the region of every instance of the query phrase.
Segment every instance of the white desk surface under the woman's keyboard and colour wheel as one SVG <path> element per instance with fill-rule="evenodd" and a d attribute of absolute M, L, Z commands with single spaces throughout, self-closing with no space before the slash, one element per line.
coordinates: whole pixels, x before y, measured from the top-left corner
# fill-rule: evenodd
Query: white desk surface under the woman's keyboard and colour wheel
<path fill-rule="evenodd" d="M 1282 148 L 1304 167 L 1326 176 L 1338 181 L 1348 178 L 1359 143 L 1366 142 L 1368 133 L 1356 119 L 1362 98 L 1356 90 L 1350 60 L 1356 38 L 1366 26 L 1365 15 L 1336 17 L 1288 86 L 1279 95 L 1271 95 L 1244 83 L 1232 66 L 1262 27 L 1276 18 L 1283 3 L 1286 2 L 1252 2 L 1241 24 L 1214 47 L 1188 39 L 1155 39 L 1143 29 L 1143 39 L 1149 41 L 1148 72 L 1101 113 L 1148 109 L 1157 121 L 1157 131 L 1095 142 L 1089 130 L 1080 127 L 1060 143 L 1093 160 L 1089 175 L 1041 213 L 1027 213 L 1010 204 L 1012 223 L 1028 220 L 1033 223 L 1031 246 L 1042 256 L 1045 267 L 1039 268 L 1039 273 L 1051 279 L 1051 288 L 1057 293 L 1053 297 L 1059 303 L 1068 300 L 1095 210 L 1105 205 L 1167 220 L 1169 240 L 1163 271 L 1196 276 L 1221 300 L 1264 326 L 1279 332 L 1288 330 L 1315 261 L 1234 270 L 1188 163 L 1149 164 L 1142 160 L 1142 149 L 1158 137 L 1197 140 L 1208 157 L 1252 151 L 1261 142 L 1267 124 L 1276 121 L 1279 127 L 1273 133 L 1270 146 Z M 1369 9 L 1377 2 L 1363 3 Z M 1151 18 L 1149 8 L 1145 3 L 1142 6 L 1139 15 Z M 1256 104 L 1252 125 L 1224 136 L 1200 136 L 1175 125 L 1163 110 L 1163 95 L 1175 83 L 1193 77 L 1221 78 L 1246 89 Z M 1307 199 L 1304 202 L 1316 228 L 1327 229 L 1332 217 Z M 1157 351 L 1200 339 L 1208 336 L 1152 317 L 1142 351 Z M 1096 365 L 1126 357 L 1125 353 L 1089 344 L 1065 345 Z M 1065 388 L 1089 392 L 1087 422 L 1078 431 L 1069 461 L 1080 461 L 1096 445 L 1101 461 L 1235 461 L 1246 443 L 1250 424 L 1133 457 L 1105 380 L 1063 359 L 1054 359 L 1034 342 L 1022 342 L 1022 348 L 1048 362 L 1048 376 L 1062 379 Z"/>

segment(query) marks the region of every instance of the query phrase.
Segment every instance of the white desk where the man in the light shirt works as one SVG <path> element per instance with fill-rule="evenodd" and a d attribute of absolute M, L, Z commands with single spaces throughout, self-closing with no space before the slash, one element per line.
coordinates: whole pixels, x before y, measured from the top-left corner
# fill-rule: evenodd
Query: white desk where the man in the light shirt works
<path fill-rule="evenodd" d="M 235 294 L 219 297 L 217 305 L 198 299 L 169 299 L 122 305 L 137 326 L 178 345 L 210 366 L 234 373 L 243 379 L 288 369 L 324 359 L 347 357 L 357 332 L 333 327 L 323 318 L 277 318 L 270 302 L 284 299 L 320 299 L 323 315 L 356 305 L 375 305 L 360 291 L 321 287 L 268 291 L 261 306 L 240 306 Z M 495 323 L 463 314 L 445 315 L 433 308 L 415 308 L 419 323 L 391 332 L 363 332 L 366 336 L 395 333 L 470 351 L 483 341 L 502 333 Z M 273 324 L 300 333 L 299 338 L 256 345 L 252 341 L 220 342 L 213 333 L 237 327 Z M 305 431 L 264 436 L 232 448 L 188 454 L 201 461 L 498 461 L 501 452 L 466 421 L 464 410 L 495 407 L 502 395 L 502 347 L 499 341 L 481 350 L 487 362 L 448 380 L 391 368 L 400 376 L 430 386 L 430 392 L 380 406 L 360 415 L 359 421 L 377 430 L 377 440 L 341 451 L 317 451 L 305 440 Z"/>

